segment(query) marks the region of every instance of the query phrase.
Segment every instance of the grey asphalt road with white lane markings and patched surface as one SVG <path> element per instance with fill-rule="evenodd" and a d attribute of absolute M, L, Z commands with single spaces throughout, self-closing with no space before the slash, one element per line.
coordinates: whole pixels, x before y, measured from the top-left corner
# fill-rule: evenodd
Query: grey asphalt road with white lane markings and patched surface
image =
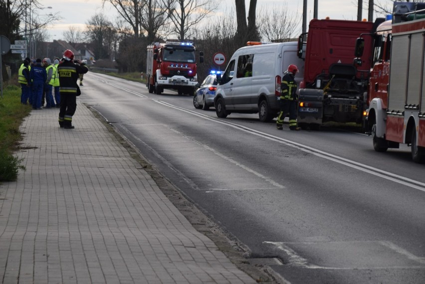
<path fill-rule="evenodd" d="M 278 131 L 174 91 L 84 79 L 80 99 L 282 282 L 425 283 L 425 165 L 407 145 L 378 153 L 349 130 Z"/>

